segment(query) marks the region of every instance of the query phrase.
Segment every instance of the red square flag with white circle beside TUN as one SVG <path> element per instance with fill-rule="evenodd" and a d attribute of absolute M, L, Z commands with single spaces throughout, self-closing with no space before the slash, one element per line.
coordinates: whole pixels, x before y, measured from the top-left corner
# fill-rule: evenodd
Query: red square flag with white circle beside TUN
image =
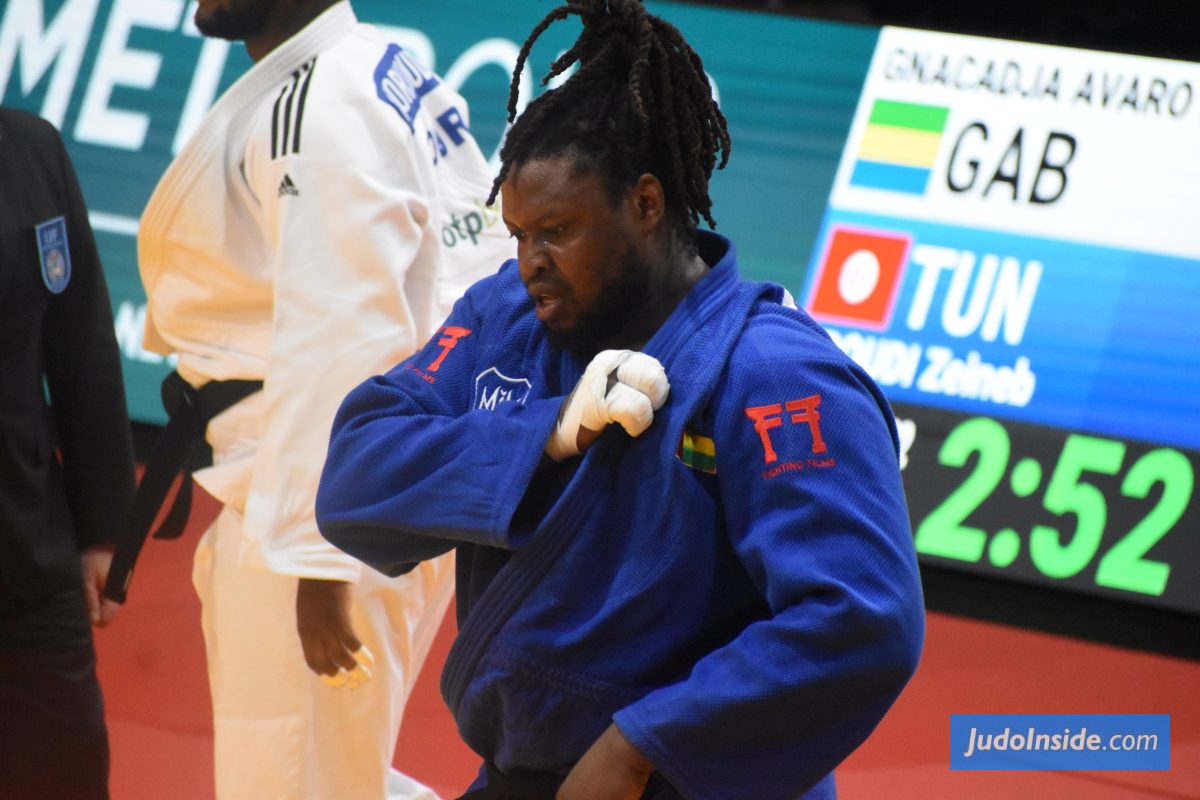
<path fill-rule="evenodd" d="M 826 241 L 808 312 L 824 321 L 887 329 L 912 237 L 834 225 Z"/>

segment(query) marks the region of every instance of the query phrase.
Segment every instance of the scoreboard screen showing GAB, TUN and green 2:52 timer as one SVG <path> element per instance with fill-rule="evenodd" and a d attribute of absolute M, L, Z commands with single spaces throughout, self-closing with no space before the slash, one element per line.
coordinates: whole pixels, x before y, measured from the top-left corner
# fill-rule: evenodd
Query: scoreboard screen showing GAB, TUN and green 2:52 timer
<path fill-rule="evenodd" d="M 926 564 L 1200 614 L 1200 65 L 884 28 L 805 308 Z"/>

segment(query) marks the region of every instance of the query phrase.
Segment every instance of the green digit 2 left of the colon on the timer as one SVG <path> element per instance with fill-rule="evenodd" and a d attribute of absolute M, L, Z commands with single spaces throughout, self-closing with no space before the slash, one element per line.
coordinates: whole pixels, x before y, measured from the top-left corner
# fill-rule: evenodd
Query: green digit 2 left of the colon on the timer
<path fill-rule="evenodd" d="M 988 543 L 988 534 L 979 528 L 962 524 L 996 489 L 1012 445 L 1004 427 L 988 417 L 967 420 L 946 437 L 937 461 L 944 467 L 965 467 L 972 453 L 979 453 L 974 469 L 941 505 L 934 509 L 917 528 L 917 552 L 928 555 L 978 561 Z"/>

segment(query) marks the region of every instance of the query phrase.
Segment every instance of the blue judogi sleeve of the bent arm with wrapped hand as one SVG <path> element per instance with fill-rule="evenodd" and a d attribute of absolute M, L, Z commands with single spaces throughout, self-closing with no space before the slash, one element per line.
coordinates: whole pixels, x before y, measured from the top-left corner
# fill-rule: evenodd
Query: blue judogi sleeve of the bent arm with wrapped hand
<path fill-rule="evenodd" d="M 475 378 L 491 366 L 481 360 L 520 354 L 529 338 L 528 324 L 511 311 L 522 296 L 515 272 L 510 261 L 475 284 L 425 348 L 354 389 L 334 420 L 318 527 L 386 575 L 460 542 L 518 543 L 512 515 L 562 397 L 472 408 Z"/>

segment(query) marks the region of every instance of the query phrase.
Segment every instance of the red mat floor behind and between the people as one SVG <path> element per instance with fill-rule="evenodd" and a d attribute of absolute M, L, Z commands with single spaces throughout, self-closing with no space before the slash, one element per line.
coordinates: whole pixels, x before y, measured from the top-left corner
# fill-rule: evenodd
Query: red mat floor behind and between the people
<path fill-rule="evenodd" d="M 146 546 L 130 603 L 97 632 L 114 800 L 212 798 L 191 554 L 215 513 L 198 491 L 184 539 Z M 451 609 L 409 700 L 396 756 L 400 769 L 448 800 L 478 766 L 438 694 L 452 619 Z M 952 772 L 950 714 L 988 712 L 1170 714 L 1171 770 Z M 916 678 L 838 770 L 838 784 L 842 800 L 1200 799 L 1200 663 L 930 613 Z"/>

